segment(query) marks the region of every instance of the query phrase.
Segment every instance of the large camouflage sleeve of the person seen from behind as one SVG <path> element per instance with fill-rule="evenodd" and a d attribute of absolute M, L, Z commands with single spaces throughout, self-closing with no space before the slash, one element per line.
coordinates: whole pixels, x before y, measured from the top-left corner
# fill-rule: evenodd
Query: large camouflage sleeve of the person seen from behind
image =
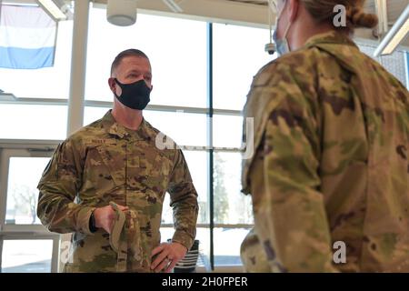
<path fill-rule="evenodd" d="M 259 175 L 264 175 L 265 190 L 252 193 L 257 234 L 272 270 L 334 272 L 319 191 L 317 122 L 304 91 L 287 73 L 277 73 L 277 84 L 257 88 L 259 94 L 280 100 L 268 115 L 259 149 L 264 152 Z"/>

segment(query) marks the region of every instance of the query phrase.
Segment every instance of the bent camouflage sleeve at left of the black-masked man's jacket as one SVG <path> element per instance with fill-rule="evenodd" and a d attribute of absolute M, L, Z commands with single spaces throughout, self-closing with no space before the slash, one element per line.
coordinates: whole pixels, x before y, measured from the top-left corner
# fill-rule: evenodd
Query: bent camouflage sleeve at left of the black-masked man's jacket
<path fill-rule="evenodd" d="M 81 186 L 81 160 L 73 141 L 66 140 L 56 148 L 37 186 L 37 216 L 52 232 L 92 234 L 89 219 L 95 208 L 74 203 Z"/>

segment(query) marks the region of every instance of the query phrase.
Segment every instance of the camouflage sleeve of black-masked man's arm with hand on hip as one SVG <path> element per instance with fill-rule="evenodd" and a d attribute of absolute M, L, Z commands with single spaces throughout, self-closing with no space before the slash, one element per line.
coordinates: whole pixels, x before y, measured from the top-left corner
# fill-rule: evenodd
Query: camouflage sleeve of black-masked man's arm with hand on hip
<path fill-rule="evenodd" d="M 182 244 L 189 250 L 196 236 L 199 210 L 197 192 L 181 150 L 176 150 L 174 163 L 168 187 L 170 206 L 174 211 L 175 235 L 172 241 Z"/>

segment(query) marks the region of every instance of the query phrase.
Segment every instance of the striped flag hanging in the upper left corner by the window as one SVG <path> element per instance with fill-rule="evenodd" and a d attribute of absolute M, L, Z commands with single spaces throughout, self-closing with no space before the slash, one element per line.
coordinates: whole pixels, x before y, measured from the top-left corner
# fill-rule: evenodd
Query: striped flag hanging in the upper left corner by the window
<path fill-rule="evenodd" d="M 56 23 L 38 6 L 1 5 L 0 67 L 54 65 Z"/>

